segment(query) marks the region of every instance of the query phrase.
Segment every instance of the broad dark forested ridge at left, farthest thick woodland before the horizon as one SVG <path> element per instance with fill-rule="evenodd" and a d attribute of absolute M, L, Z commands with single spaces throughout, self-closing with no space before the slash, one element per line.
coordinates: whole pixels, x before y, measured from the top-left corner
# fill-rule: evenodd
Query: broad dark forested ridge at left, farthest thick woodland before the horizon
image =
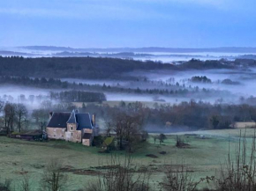
<path fill-rule="evenodd" d="M 89 79 L 135 79 L 125 77 L 133 70 L 165 70 L 170 64 L 95 57 L 0 57 L 0 75 L 26 77 L 72 77 Z"/>

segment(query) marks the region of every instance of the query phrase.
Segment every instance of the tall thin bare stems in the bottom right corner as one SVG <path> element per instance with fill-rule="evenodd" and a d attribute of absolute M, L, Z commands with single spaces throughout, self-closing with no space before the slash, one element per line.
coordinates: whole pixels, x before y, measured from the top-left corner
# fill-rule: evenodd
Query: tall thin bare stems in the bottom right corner
<path fill-rule="evenodd" d="M 246 131 L 245 131 L 246 134 Z M 229 146 L 228 160 L 221 166 L 219 178 L 215 178 L 216 189 L 221 191 L 256 190 L 255 131 L 252 145 L 248 146 L 246 136 L 240 136 L 235 149 L 235 159 L 231 159 Z"/>

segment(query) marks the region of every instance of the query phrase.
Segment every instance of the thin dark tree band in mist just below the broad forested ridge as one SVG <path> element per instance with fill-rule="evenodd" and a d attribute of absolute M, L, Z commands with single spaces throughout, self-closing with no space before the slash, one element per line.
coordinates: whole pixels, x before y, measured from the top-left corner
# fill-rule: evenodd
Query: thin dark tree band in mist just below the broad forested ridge
<path fill-rule="evenodd" d="M 111 86 L 106 84 L 82 84 L 82 83 L 69 83 L 66 81 L 61 81 L 60 79 L 54 78 L 45 78 L 45 77 L 10 77 L 3 76 L 0 77 L 0 84 L 20 84 L 32 87 L 40 87 L 46 89 L 73 89 L 74 91 L 90 91 L 90 92 L 122 92 L 122 93 L 136 93 L 136 94 L 149 94 L 149 95 L 177 95 L 181 97 L 198 95 L 199 93 L 203 93 L 206 96 L 218 95 L 222 91 L 218 90 L 210 90 L 206 88 L 200 89 L 198 86 L 196 87 L 185 87 L 184 84 L 168 84 L 162 83 L 162 88 L 150 88 L 152 82 L 144 82 L 148 83 L 149 87 L 146 89 L 142 88 L 130 88 L 123 86 Z M 227 93 L 227 92 L 226 92 Z"/>

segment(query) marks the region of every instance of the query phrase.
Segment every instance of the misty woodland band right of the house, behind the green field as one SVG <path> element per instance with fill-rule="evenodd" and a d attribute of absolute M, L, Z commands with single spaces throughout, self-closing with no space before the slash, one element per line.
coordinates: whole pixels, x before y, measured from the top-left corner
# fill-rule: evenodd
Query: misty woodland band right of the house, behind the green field
<path fill-rule="evenodd" d="M 256 107 L 247 104 L 210 104 L 184 101 L 180 104 L 125 103 L 117 107 L 87 104 L 84 111 L 94 112 L 108 121 L 117 113 L 139 114 L 147 131 L 179 131 L 193 129 L 230 129 L 236 121 L 256 121 Z"/>

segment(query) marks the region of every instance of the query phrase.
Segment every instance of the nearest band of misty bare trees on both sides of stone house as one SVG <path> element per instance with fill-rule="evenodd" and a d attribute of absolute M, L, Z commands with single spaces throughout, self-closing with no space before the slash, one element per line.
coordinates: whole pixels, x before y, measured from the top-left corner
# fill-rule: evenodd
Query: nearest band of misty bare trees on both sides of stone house
<path fill-rule="evenodd" d="M 29 123 L 46 122 L 49 112 L 70 112 L 75 107 L 72 103 L 53 104 L 50 100 L 43 100 L 41 107 L 34 109 L 31 114 L 23 104 L 0 102 L 2 127 L 8 132 L 26 129 Z M 106 128 L 116 131 L 120 135 L 120 149 L 122 143 L 133 142 L 134 137 L 143 139 L 144 130 L 147 131 L 179 131 L 190 129 L 230 129 L 236 121 L 256 121 L 256 107 L 247 104 L 228 105 L 210 104 L 205 102 L 182 102 L 180 104 L 154 104 L 146 107 L 140 102 L 125 103 L 121 101 L 116 107 L 107 104 L 83 104 L 80 112 L 95 113 L 98 118 L 106 122 Z M 118 128 L 119 127 L 119 128 Z M 125 131 L 131 129 L 131 131 Z M 108 134 L 108 133 L 107 133 Z M 130 138 L 131 137 L 131 138 Z M 122 141 L 124 140 L 124 141 Z M 137 139 L 136 139 L 137 140 Z M 134 143 L 136 142 L 134 141 Z M 132 144 L 129 146 L 132 149 Z"/>

